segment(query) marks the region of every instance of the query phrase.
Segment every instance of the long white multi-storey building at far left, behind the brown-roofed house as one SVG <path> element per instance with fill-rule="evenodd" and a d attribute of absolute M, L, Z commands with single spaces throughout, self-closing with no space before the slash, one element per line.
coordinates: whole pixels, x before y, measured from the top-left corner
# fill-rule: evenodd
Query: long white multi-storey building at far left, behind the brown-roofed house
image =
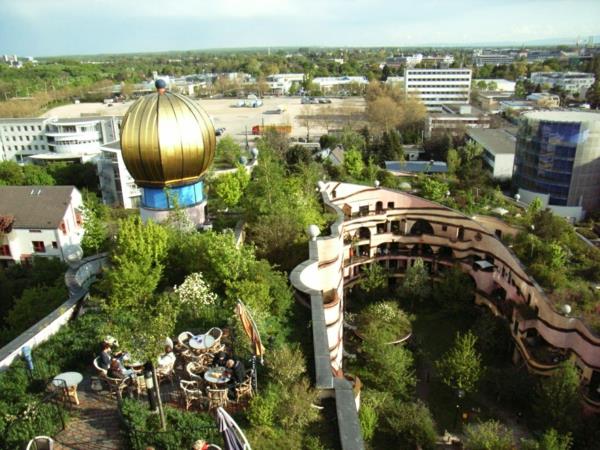
<path fill-rule="evenodd" d="M 86 162 L 118 139 L 121 117 L 0 119 L 0 160 Z"/>

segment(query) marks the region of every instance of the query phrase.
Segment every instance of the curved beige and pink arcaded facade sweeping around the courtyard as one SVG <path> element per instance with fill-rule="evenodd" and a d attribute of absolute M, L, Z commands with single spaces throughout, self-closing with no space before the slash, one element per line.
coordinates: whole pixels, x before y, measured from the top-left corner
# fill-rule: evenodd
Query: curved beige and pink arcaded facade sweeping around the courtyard
<path fill-rule="evenodd" d="M 381 263 L 402 273 L 420 257 L 434 273 L 458 263 L 471 276 L 476 301 L 510 322 L 515 358 L 524 359 L 529 370 L 548 374 L 571 358 L 581 369 L 584 392 L 595 393 L 590 382 L 600 378 L 600 337 L 554 309 L 498 239 L 505 230 L 402 192 L 336 182 L 322 185 L 321 192 L 338 220 L 330 236 L 310 242 L 309 260 L 290 278 L 299 295 L 321 296 L 334 371 L 343 371 L 344 287 L 360 278 L 364 265 Z M 477 261 L 493 266 L 479 269 Z M 550 360 L 539 356 L 540 345 L 554 355 Z M 600 407 L 597 399 L 588 400 Z"/>

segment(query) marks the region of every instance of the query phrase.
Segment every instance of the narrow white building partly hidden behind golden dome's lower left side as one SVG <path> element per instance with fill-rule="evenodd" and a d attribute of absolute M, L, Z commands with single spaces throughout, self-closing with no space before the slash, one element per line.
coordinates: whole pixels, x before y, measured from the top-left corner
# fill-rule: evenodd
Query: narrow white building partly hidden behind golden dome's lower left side
<path fill-rule="evenodd" d="M 97 167 L 102 202 L 113 207 L 137 208 L 142 193 L 125 167 L 121 142 L 103 145 L 100 150 Z"/>

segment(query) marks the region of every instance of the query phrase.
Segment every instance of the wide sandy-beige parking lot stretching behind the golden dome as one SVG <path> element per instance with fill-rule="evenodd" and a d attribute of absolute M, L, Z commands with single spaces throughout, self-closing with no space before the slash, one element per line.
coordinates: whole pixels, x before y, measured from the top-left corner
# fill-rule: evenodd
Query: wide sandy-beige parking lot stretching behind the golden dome
<path fill-rule="evenodd" d="M 331 104 L 302 104 L 299 97 L 264 98 L 263 106 L 258 108 L 237 107 L 239 99 L 200 99 L 200 106 L 212 118 L 215 128 L 225 128 L 224 135 L 231 135 L 238 141 L 245 140 L 246 130 L 252 133 L 255 125 L 292 125 L 292 136 L 306 137 L 306 127 L 298 116 L 306 112 L 318 114 L 328 108 L 347 108 L 362 110 L 365 107 L 361 97 L 333 98 Z M 91 115 L 123 115 L 131 102 L 115 103 L 108 106 L 102 103 L 80 103 L 56 107 L 47 111 L 43 117 L 76 118 Z M 282 112 L 280 112 L 282 111 Z M 325 128 L 313 122 L 310 135 L 319 136 Z"/>

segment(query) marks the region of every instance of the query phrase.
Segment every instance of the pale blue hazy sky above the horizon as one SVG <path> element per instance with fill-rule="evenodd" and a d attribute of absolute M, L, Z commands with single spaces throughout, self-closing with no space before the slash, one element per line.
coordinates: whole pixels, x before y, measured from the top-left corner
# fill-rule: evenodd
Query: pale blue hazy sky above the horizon
<path fill-rule="evenodd" d="M 600 0 L 0 0 L 0 54 L 21 56 L 599 35 Z"/>

